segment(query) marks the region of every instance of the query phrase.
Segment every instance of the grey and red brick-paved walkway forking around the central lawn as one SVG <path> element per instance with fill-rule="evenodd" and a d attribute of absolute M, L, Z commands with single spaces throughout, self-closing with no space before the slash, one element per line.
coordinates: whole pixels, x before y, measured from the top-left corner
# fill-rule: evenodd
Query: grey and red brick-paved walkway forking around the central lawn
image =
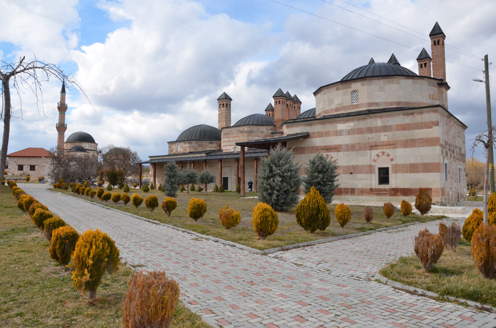
<path fill-rule="evenodd" d="M 496 314 L 434 301 L 367 279 L 410 255 L 413 236 L 437 221 L 256 255 L 166 226 L 23 185 L 80 233 L 99 228 L 123 261 L 163 270 L 181 299 L 219 327 L 496 327 Z M 451 220 L 451 219 L 450 219 Z"/>

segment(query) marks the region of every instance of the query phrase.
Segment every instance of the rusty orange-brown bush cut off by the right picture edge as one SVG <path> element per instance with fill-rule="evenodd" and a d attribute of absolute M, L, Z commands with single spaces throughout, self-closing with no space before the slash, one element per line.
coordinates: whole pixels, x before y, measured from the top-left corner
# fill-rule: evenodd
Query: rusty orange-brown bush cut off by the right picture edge
<path fill-rule="evenodd" d="M 475 230 L 470 245 L 470 253 L 474 258 L 475 266 L 486 279 L 496 276 L 496 227 L 481 224 Z"/>

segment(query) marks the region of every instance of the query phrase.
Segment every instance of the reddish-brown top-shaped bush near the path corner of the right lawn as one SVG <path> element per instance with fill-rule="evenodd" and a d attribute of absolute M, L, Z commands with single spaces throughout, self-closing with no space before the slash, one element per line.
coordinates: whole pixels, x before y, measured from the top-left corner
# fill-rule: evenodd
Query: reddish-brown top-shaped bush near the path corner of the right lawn
<path fill-rule="evenodd" d="M 442 243 L 441 236 L 435 235 L 425 228 L 415 237 L 414 250 L 420 260 L 422 269 L 430 272 L 441 257 L 444 244 Z"/>

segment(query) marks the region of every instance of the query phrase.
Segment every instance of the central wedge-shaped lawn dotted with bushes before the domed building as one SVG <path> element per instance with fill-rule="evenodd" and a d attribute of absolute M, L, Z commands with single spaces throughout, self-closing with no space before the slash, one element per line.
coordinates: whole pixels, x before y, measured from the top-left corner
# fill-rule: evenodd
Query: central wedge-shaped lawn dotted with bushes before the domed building
<path fill-rule="evenodd" d="M 55 189 L 52 189 L 55 190 Z M 60 192 L 60 190 L 57 190 Z M 112 192 L 120 192 L 122 190 L 114 189 Z M 205 234 L 208 236 L 229 240 L 235 243 L 243 244 L 248 247 L 252 247 L 259 250 L 265 250 L 274 247 L 281 247 L 287 245 L 293 245 L 303 242 L 308 242 L 312 240 L 325 239 L 330 237 L 342 236 L 352 233 L 364 232 L 375 230 L 379 228 L 390 227 L 394 225 L 411 223 L 411 222 L 427 222 L 434 219 L 439 219 L 439 216 L 419 216 L 412 214 L 408 217 L 404 217 L 397 210 L 395 214 L 391 217 L 391 219 L 387 219 L 382 211 L 382 207 L 372 207 L 374 212 L 374 219 L 371 223 L 366 223 L 364 219 L 364 206 L 360 205 L 352 205 L 350 206 L 352 219 L 350 222 L 344 227 L 339 227 L 339 224 L 336 222 L 334 217 L 334 208 L 335 204 L 328 205 L 329 210 L 331 212 L 331 224 L 324 231 L 317 230 L 315 233 L 310 233 L 305 231 L 300 225 L 296 223 L 295 217 L 295 209 L 296 206 L 291 208 L 288 212 L 278 212 L 277 215 L 279 217 L 279 226 L 277 231 L 272 235 L 267 237 L 265 240 L 256 239 L 255 231 L 253 230 L 253 226 L 251 224 L 252 211 L 253 208 L 258 203 L 258 199 L 256 198 L 241 198 L 237 193 L 214 193 L 209 192 L 206 195 L 205 192 L 192 192 L 189 194 L 186 192 L 178 193 L 178 197 L 176 201 L 178 202 L 178 207 L 176 210 L 172 212 L 172 215 L 168 217 L 164 211 L 160 207 L 156 208 L 153 213 L 150 213 L 148 209 L 143 204 L 139 208 L 135 208 L 130 204 L 124 206 L 123 202 L 119 202 L 114 204 L 112 201 L 102 202 L 96 197 L 91 199 L 87 196 L 77 195 L 70 191 L 65 192 L 68 195 L 86 199 L 92 202 L 96 202 L 114 209 L 118 209 L 127 213 L 131 213 L 140 217 L 144 217 L 147 219 L 156 220 L 162 223 L 167 223 L 173 226 L 177 226 L 183 229 L 187 229 L 190 231 L 194 231 L 197 233 Z M 149 195 L 156 195 L 159 199 L 159 203 L 161 204 L 165 198 L 165 195 L 158 190 L 150 190 L 148 193 L 144 193 L 141 189 L 131 188 L 129 191 L 129 196 L 132 196 L 133 193 L 137 193 L 138 195 L 146 198 Z M 257 193 L 247 193 L 247 196 L 257 196 Z M 205 200 L 207 204 L 207 212 L 205 216 L 195 222 L 193 219 L 189 219 L 187 215 L 187 205 L 189 203 L 189 199 L 201 198 Z M 229 207 L 234 208 L 235 210 L 241 213 L 241 223 L 229 230 L 224 229 L 224 227 L 220 224 L 219 220 L 219 210 L 221 207 L 226 204 Z"/>

